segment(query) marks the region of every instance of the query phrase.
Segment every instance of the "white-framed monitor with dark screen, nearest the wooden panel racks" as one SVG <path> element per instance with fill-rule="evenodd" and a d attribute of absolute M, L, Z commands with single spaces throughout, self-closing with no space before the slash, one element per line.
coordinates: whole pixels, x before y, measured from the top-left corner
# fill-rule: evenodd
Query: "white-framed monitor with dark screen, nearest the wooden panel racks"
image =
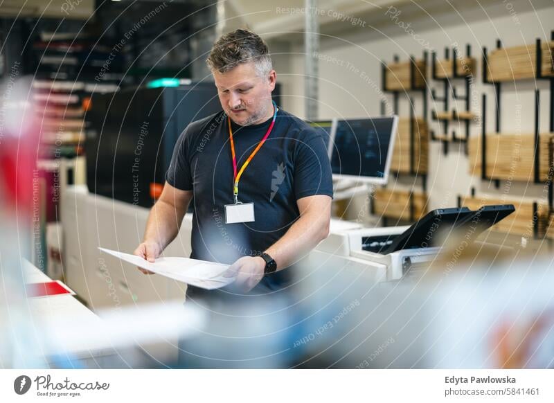
<path fill-rule="evenodd" d="M 398 116 L 338 120 L 330 146 L 334 179 L 385 184 Z"/>

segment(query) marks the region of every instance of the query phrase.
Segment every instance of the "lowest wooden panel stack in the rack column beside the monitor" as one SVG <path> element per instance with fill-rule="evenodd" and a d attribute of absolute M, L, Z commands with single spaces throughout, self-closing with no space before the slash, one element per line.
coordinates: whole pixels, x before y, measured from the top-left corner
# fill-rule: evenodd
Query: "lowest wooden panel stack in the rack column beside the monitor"
<path fill-rule="evenodd" d="M 410 197 L 413 199 L 413 219 L 427 213 L 427 197 L 422 192 L 377 188 L 373 194 L 373 211 L 379 217 L 410 220 Z"/>

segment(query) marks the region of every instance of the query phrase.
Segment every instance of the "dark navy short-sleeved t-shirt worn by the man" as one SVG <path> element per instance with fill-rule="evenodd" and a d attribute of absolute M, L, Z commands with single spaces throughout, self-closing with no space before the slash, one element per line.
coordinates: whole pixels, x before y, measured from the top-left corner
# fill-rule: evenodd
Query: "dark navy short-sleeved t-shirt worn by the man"
<path fill-rule="evenodd" d="M 262 140 L 271 118 L 259 125 L 232 124 L 237 170 Z M 179 136 L 166 180 L 193 190 L 190 258 L 232 264 L 260 255 L 277 242 L 299 217 L 296 200 L 332 197 L 332 174 L 324 140 L 312 127 L 278 109 L 271 134 L 244 170 L 238 199 L 254 204 L 255 222 L 225 224 L 226 204 L 233 204 L 233 160 L 229 123 L 223 111 L 190 123 Z M 287 285 L 289 269 L 265 276 L 260 286 Z"/>

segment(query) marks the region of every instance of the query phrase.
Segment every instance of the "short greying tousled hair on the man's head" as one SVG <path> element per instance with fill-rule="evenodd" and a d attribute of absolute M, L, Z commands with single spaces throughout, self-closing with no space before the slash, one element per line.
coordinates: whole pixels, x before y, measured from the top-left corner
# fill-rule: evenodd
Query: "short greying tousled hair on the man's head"
<path fill-rule="evenodd" d="M 260 77 L 269 74 L 273 69 L 267 44 L 256 33 L 250 30 L 238 29 L 222 35 L 213 44 L 206 64 L 209 69 L 226 73 L 239 64 L 253 62 L 256 73 Z"/>

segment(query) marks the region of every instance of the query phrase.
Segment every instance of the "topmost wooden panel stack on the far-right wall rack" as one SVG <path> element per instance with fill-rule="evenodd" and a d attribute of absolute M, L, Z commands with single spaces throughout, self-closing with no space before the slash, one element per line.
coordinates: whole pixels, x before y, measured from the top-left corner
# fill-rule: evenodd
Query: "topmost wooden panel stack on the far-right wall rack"
<path fill-rule="evenodd" d="M 541 43 L 542 75 L 554 77 L 553 64 L 554 42 Z M 488 56 L 488 78 L 491 81 L 513 81 L 534 78 L 536 71 L 537 45 L 523 45 L 512 48 L 500 48 Z"/>

